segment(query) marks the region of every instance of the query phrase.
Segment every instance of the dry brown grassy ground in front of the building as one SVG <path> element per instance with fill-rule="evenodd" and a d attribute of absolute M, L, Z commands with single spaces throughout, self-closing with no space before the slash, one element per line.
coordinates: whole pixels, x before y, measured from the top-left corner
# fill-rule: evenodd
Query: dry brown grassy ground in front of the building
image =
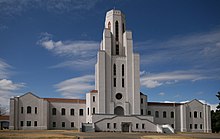
<path fill-rule="evenodd" d="M 3 130 L 0 139 L 219 139 L 220 134 L 211 133 L 84 133 L 75 130 Z"/>

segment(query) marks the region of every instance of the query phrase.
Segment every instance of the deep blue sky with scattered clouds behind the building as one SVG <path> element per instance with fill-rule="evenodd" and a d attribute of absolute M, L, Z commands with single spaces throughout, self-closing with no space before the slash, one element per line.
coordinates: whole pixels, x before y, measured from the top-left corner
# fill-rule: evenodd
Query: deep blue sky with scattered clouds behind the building
<path fill-rule="evenodd" d="M 94 87 L 105 14 L 126 16 L 148 101 L 198 99 L 220 91 L 218 0 L 0 0 L 0 105 L 32 92 L 82 98 Z"/>

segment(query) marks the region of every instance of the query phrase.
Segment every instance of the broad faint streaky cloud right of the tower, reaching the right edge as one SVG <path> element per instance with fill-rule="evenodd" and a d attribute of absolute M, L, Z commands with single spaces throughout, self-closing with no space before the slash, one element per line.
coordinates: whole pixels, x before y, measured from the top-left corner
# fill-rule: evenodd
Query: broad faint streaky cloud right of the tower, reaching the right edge
<path fill-rule="evenodd" d="M 175 36 L 165 41 L 147 40 L 135 46 L 141 53 L 141 64 L 150 67 L 210 68 L 217 63 L 220 65 L 220 29 Z"/>

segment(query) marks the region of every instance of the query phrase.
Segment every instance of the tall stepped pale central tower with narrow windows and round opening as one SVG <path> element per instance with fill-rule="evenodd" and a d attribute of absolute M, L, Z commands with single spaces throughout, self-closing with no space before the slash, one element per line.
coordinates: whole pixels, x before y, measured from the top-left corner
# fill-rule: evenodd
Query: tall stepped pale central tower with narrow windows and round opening
<path fill-rule="evenodd" d="M 133 53 L 132 32 L 124 14 L 107 12 L 97 55 L 95 87 L 100 114 L 140 115 L 139 54 Z"/>

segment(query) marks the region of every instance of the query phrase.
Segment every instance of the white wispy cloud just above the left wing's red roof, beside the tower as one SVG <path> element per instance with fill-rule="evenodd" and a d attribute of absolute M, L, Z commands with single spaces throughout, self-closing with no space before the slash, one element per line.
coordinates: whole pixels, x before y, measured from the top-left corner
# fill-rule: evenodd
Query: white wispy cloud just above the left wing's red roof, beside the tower
<path fill-rule="evenodd" d="M 82 98 L 85 93 L 94 89 L 94 75 L 71 78 L 55 85 L 65 98 Z"/>

